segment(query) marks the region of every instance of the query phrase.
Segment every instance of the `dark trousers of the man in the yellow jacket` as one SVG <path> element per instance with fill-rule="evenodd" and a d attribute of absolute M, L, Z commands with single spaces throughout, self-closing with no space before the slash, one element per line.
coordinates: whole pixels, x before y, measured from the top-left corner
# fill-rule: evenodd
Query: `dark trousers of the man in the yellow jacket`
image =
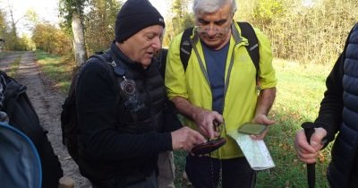
<path fill-rule="evenodd" d="M 256 182 L 256 172 L 246 158 L 217 159 L 188 155 L 185 172 L 195 188 L 215 188 L 219 181 L 223 188 L 251 188 Z"/>

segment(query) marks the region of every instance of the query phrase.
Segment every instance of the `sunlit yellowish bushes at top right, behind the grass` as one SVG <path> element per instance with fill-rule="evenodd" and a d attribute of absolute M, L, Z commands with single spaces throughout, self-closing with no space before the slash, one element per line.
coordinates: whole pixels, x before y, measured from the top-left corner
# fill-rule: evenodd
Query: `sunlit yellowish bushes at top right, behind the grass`
<path fill-rule="evenodd" d="M 349 0 L 240 1 L 239 20 L 268 35 L 274 56 L 301 64 L 334 64 L 358 17 L 358 4 Z"/>

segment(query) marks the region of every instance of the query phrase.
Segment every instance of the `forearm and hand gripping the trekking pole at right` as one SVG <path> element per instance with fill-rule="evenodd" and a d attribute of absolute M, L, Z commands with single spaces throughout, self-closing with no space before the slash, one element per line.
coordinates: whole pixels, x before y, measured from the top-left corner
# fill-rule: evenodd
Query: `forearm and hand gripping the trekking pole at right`
<path fill-rule="evenodd" d="M 326 85 L 327 90 L 320 103 L 320 112 L 314 122 L 315 131 L 311 135 L 310 143 L 303 129 L 296 133 L 294 148 L 298 157 L 305 163 L 313 163 L 328 141 L 333 141 L 342 122 L 343 110 L 343 55 L 339 56 Z M 327 140 L 327 141 L 323 141 Z M 325 143 L 326 142 L 326 143 Z"/>

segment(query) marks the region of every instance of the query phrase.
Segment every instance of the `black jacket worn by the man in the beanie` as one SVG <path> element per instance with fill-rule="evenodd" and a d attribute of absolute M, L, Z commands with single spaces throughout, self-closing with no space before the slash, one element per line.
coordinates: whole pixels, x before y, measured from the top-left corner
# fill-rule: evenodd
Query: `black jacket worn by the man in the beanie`
<path fill-rule="evenodd" d="M 92 183 L 116 179 L 127 184 L 149 176 L 157 167 L 158 153 L 172 150 L 170 132 L 161 132 L 166 92 L 157 62 L 143 69 L 115 43 L 110 51 L 115 63 L 124 68 L 126 79 L 135 81 L 140 105 L 132 115 L 117 79 L 98 59 L 87 63 L 76 91 L 80 170 Z"/>

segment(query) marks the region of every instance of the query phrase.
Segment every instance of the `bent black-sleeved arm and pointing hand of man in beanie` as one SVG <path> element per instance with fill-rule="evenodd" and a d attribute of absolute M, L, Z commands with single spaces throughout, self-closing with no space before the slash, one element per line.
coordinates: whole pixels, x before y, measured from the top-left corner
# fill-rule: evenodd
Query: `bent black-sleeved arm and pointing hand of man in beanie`
<path fill-rule="evenodd" d="M 115 83 L 116 84 L 116 83 Z M 104 161 L 126 158 L 152 158 L 161 151 L 187 150 L 206 141 L 199 132 L 179 129 L 175 132 L 124 133 L 117 130 L 114 83 L 100 65 L 87 67 L 77 87 L 80 141 L 86 155 Z"/>

